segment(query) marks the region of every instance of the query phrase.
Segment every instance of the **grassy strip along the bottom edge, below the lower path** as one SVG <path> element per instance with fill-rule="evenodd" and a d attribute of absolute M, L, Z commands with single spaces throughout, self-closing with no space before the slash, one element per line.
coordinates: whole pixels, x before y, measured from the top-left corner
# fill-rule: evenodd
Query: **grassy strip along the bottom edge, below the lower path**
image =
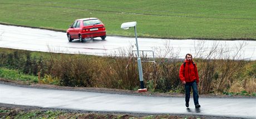
<path fill-rule="evenodd" d="M 101 119 L 126 119 L 126 118 L 140 118 L 140 119 L 155 119 L 155 118 L 212 118 L 211 116 L 172 116 L 172 115 L 150 115 L 150 116 L 139 116 L 139 115 L 125 115 L 125 114 L 114 114 L 114 113 L 96 113 L 96 112 L 70 112 L 63 110 L 24 110 L 22 108 L 0 108 L 0 118 L 101 118 Z"/>

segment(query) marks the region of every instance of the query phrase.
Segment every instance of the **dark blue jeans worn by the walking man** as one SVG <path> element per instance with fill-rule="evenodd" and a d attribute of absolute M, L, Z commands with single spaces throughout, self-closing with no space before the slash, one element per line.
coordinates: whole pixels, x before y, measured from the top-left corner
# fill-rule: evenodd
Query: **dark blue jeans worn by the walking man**
<path fill-rule="evenodd" d="M 191 87 L 193 90 L 194 104 L 197 105 L 197 104 L 199 104 L 199 102 L 198 102 L 199 96 L 198 96 L 198 86 L 196 85 L 196 81 L 186 82 L 186 84 L 185 84 L 185 91 L 186 91 L 185 101 L 186 101 L 186 103 L 189 103 Z"/>

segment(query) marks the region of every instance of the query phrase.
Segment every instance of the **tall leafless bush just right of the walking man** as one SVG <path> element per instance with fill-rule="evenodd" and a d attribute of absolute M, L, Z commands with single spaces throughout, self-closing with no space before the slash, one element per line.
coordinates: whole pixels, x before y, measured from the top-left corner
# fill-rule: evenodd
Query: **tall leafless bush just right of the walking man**
<path fill-rule="evenodd" d="M 244 46 L 245 43 L 243 42 L 238 47 L 230 50 L 227 44 L 220 45 L 215 42 L 208 54 L 196 53 L 200 57 L 204 57 L 199 60 L 198 66 L 200 76 L 199 93 L 223 92 L 232 86 L 233 81 L 237 78 L 236 75 L 240 71 L 244 71 L 243 68 L 247 64 L 247 62 L 241 60 Z M 207 52 L 203 47 L 205 45 L 196 48 L 199 48 L 198 51 Z M 235 52 L 230 53 L 230 51 Z"/>

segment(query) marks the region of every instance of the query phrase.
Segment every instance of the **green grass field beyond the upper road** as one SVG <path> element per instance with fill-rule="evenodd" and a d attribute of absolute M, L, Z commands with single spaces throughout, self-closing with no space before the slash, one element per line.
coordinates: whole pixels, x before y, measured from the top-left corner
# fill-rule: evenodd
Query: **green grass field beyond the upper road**
<path fill-rule="evenodd" d="M 78 18 L 97 17 L 107 34 L 134 36 L 121 23 L 137 21 L 139 37 L 256 39 L 256 1 L 0 1 L 0 23 L 66 30 Z"/>

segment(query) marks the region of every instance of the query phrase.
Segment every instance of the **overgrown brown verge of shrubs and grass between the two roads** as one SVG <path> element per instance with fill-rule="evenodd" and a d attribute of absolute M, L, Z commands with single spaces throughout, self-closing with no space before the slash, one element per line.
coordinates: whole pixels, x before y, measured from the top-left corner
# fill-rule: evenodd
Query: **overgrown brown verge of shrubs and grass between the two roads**
<path fill-rule="evenodd" d="M 58 86 L 124 90 L 137 90 L 140 86 L 135 57 L 99 57 L 0 48 L 0 58 L 0 77 L 9 80 L 37 83 L 40 72 L 41 83 Z M 256 96 L 256 61 L 195 59 L 195 62 L 199 70 L 200 94 Z M 151 92 L 183 93 L 179 81 L 181 63 L 172 57 L 156 58 L 156 64 L 142 63 L 146 88 Z"/>

